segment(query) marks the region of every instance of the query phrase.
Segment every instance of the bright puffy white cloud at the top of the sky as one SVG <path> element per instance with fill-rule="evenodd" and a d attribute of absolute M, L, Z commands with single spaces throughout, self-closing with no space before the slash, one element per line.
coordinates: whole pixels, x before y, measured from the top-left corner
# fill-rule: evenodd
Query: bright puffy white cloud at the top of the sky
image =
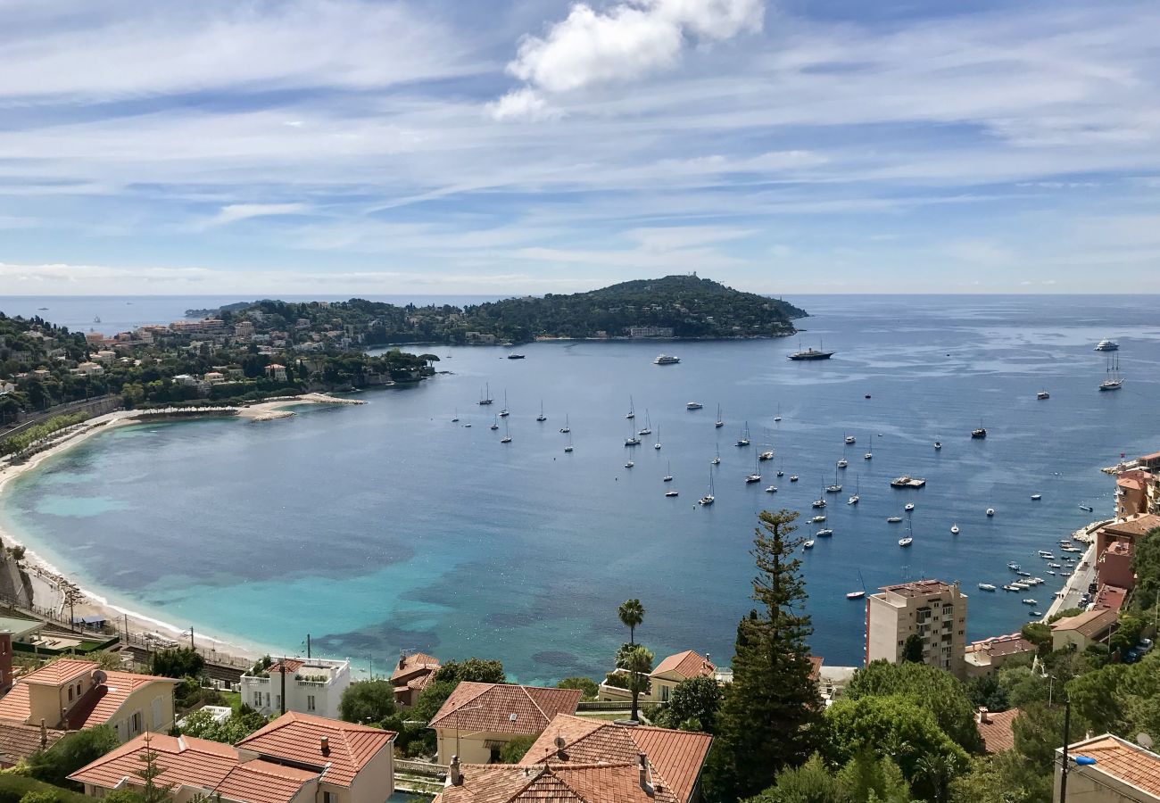
<path fill-rule="evenodd" d="M 727 39 L 762 17 L 761 0 L 630 0 L 607 12 L 578 2 L 544 36 L 524 37 L 508 72 L 553 93 L 633 81 L 675 66 L 687 36 Z"/>

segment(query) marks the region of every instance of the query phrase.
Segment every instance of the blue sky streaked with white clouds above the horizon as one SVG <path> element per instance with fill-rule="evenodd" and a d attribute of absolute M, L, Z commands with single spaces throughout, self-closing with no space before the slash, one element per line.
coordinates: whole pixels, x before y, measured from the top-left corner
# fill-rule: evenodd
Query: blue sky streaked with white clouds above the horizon
<path fill-rule="evenodd" d="M 0 19 L 0 296 L 1160 292 L 1155 2 Z"/>

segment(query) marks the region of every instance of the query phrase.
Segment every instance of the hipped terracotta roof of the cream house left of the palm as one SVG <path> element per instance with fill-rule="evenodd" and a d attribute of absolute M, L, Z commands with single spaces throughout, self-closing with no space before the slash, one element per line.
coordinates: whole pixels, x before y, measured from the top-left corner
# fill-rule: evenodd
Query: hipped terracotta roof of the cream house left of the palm
<path fill-rule="evenodd" d="M 462 682 L 428 725 L 536 736 L 557 714 L 574 714 L 581 694 L 580 689 Z"/>

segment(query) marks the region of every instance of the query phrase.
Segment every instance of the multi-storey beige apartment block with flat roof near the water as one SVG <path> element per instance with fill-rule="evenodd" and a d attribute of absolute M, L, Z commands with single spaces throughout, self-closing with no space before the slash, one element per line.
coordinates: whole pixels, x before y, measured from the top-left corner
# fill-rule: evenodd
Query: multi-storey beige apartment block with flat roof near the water
<path fill-rule="evenodd" d="M 966 594 L 958 584 L 915 580 L 867 599 L 865 660 L 902 659 L 909 636 L 922 639 L 922 663 L 965 677 Z"/>

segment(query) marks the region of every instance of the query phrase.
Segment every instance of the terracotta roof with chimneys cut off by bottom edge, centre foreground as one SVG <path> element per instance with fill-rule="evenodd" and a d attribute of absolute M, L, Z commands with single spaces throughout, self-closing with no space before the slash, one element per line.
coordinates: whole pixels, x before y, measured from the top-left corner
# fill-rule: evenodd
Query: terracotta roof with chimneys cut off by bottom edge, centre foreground
<path fill-rule="evenodd" d="M 636 764 L 502 764 L 463 767 L 463 783 L 444 787 L 435 803 L 676 803 L 668 789 L 640 788 Z"/>

